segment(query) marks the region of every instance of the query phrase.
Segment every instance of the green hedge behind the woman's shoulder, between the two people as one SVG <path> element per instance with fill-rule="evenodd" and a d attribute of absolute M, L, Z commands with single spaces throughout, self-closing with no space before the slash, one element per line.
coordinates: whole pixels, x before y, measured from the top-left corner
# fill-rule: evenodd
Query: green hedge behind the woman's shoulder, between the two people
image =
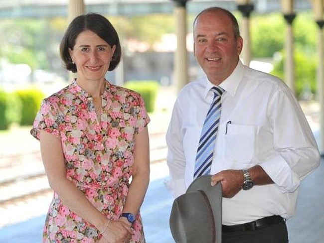
<path fill-rule="evenodd" d="M 125 83 L 125 88 L 138 92 L 144 100 L 147 112 L 154 112 L 157 100 L 159 83 L 155 80 L 130 80 Z"/>

